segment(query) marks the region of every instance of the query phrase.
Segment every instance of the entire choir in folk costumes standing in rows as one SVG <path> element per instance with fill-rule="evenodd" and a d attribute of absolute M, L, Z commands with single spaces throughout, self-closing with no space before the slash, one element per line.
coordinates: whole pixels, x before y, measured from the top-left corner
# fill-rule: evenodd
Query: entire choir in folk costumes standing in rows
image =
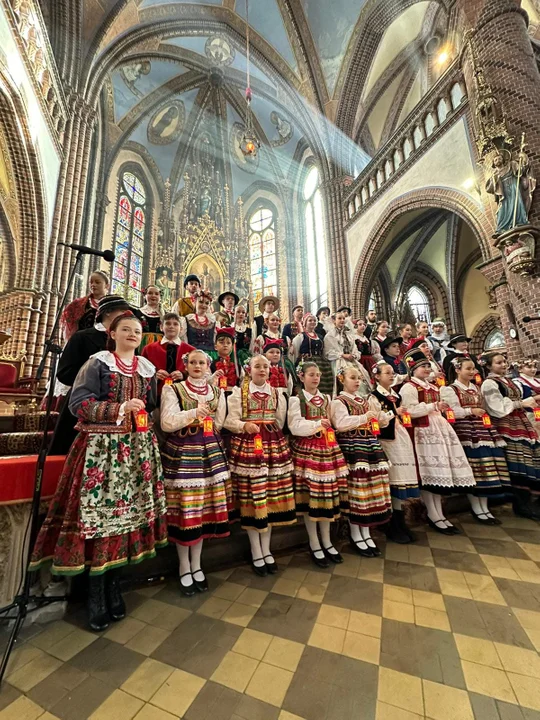
<path fill-rule="evenodd" d="M 412 498 L 444 535 L 459 532 L 443 506 L 455 493 L 479 523 L 500 523 L 488 503 L 505 496 L 540 518 L 534 362 L 511 378 L 504 354 L 477 359 L 441 318 L 393 334 L 374 311 L 353 322 L 347 307 L 297 306 L 282 326 L 267 296 L 250 324 L 233 292 L 214 311 L 196 276 L 184 287 L 172 312 L 156 287 L 139 310 L 94 273 L 64 314 L 69 392 L 51 451 L 67 458 L 31 570 L 87 570 L 93 630 L 125 615 L 118 569 L 167 543 L 179 592 L 207 590 L 204 540 L 235 522 L 264 576 L 278 570 L 273 528 L 299 515 L 321 567 L 343 562 L 331 532 L 342 516 L 362 557 L 380 555 L 373 528 L 413 542 Z"/>

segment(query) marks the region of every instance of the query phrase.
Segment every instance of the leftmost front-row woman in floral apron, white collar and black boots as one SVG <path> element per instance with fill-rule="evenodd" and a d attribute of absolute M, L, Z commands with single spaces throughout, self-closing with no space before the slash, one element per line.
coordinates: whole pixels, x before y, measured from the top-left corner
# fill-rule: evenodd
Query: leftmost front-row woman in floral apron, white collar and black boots
<path fill-rule="evenodd" d="M 135 356 L 142 336 L 131 312 L 110 328 L 115 352 L 92 355 L 77 375 L 69 408 L 79 434 L 67 456 L 30 570 L 52 560 L 55 575 L 89 567 L 88 623 L 104 630 L 125 615 L 117 568 L 167 544 L 163 472 L 147 412 L 155 368 Z"/>

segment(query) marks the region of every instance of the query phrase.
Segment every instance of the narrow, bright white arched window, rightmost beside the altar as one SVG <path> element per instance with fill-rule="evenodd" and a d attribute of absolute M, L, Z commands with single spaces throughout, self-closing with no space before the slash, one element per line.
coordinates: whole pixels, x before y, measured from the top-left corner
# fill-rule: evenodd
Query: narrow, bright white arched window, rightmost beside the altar
<path fill-rule="evenodd" d="M 328 305 L 326 241 L 319 171 L 312 167 L 304 182 L 304 220 L 306 223 L 307 262 L 309 268 L 309 303 L 313 313 Z"/>

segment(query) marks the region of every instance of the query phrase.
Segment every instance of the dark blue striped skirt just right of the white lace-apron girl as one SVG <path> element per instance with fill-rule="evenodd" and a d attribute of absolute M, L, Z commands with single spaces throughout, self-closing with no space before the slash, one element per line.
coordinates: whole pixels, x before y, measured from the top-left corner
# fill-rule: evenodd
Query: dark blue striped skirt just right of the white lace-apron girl
<path fill-rule="evenodd" d="M 471 415 L 456 420 L 454 430 L 473 471 L 476 497 L 501 497 L 510 488 L 510 475 L 504 455 L 505 441 L 496 428 L 485 427 L 481 417 Z"/>

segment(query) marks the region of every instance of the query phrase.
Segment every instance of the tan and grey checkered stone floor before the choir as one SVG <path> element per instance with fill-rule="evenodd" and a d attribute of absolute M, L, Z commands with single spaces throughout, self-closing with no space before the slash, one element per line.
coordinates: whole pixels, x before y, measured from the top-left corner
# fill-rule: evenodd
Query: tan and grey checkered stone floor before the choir
<path fill-rule="evenodd" d="M 299 552 L 216 573 L 192 599 L 145 588 L 102 635 L 80 611 L 27 628 L 0 719 L 540 720 L 540 525 L 500 517 L 330 570 Z"/>

